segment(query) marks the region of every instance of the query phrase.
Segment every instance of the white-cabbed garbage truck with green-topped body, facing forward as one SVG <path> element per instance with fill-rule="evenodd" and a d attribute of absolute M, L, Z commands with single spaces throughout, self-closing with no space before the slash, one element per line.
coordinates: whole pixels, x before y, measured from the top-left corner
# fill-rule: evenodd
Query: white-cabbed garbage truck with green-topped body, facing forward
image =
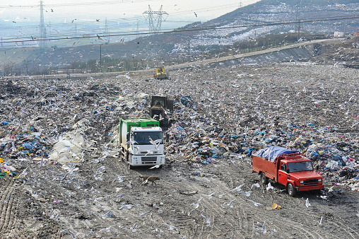
<path fill-rule="evenodd" d="M 132 166 L 164 165 L 163 132 L 150 118 L 120 119 L 119 146 L 122 161 Z"/>

